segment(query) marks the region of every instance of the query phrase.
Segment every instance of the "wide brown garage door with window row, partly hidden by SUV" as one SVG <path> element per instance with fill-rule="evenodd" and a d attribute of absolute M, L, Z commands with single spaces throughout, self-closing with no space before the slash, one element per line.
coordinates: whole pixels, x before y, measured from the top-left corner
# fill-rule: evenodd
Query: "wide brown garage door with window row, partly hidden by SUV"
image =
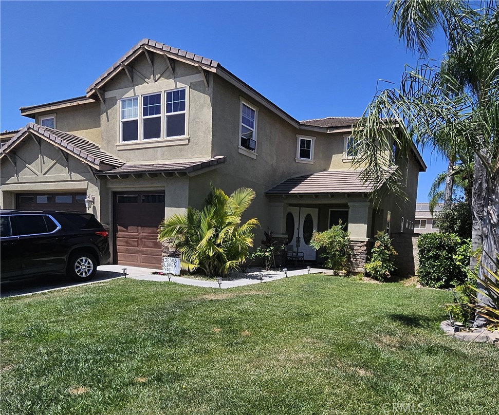
<path fill-rule="evenodd" d="M 18 194 L 16 208 L 24 211 L 86 212 L 84 193 L 24 193 Z"/>

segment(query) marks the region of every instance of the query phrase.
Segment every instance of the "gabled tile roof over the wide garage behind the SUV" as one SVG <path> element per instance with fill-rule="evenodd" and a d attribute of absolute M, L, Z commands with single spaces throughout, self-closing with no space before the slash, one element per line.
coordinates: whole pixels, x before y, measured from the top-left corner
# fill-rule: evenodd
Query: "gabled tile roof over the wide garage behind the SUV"
<path fill-rule="evenodd" d="M 48 141 L 50 144 L 59 147 L 66 153 L 82 160 L 97 170 L 108 170 L 125 164 L 123 161 L 106 153 L 96 143 L 83 137 L 64 133 L 64 131 L 59 131 L 54 128 L 42 127 L 33 123 L 27 124 L 2 147 L 0 158 L 8 155 L 9 152 L 19 146 L 30 134 Z"/>

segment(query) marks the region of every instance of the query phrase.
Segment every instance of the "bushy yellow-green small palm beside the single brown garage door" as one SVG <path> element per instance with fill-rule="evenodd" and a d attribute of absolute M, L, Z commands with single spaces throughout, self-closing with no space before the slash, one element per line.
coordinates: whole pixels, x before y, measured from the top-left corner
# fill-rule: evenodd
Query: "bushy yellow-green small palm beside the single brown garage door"
<path fill-rule="evenodd" d="M 253 246 L 252 230 L 256 218 L 242 223 L 243 213 L 255 198 L 255 192 L 242 187 L 230 196 L 212 186 L 199 211 L 187 208 L 181 215 L 164 219 L 159 225 L 158 240 L 169 241 L 181 253 L 180 267 L 193 272 L 200 269 L 207 276 L 224 276 L 242 265 Z"/>

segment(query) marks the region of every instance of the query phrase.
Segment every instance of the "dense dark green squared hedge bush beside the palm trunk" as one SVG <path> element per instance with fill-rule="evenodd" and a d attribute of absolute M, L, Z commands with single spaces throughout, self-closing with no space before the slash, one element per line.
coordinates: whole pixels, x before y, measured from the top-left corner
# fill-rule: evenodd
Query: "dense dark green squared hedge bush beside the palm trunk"
<path fill-rule="evenodd" d="M 449 288 L 467 280 L 470 241 L 462 241 L 456 234 L 428 233 L 418 239 L 421 284 L 434 288 Z"/>

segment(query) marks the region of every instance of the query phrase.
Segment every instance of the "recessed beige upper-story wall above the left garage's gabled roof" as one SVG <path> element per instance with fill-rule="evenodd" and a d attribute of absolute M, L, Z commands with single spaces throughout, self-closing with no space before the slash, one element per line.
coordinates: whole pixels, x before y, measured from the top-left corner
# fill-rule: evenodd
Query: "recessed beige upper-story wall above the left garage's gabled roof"
<path fill-rule="evenodd" d="M 86 138 L 99 145 L 101 144 L 99 102 L 40 112 L 36 114 L 35 122 L 41 124 L 41 117 L 52 114 L 56 116 L 56 129 Z"/>

